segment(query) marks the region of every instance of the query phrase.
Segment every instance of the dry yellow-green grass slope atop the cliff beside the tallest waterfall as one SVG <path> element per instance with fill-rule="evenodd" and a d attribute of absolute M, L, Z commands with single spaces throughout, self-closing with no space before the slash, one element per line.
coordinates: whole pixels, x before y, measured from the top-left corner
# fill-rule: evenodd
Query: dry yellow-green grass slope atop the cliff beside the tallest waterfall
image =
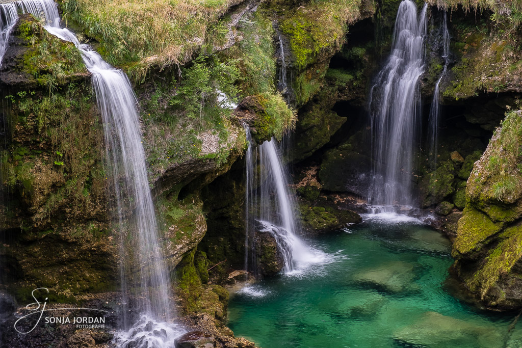
<path fill-rule="evenodd" d="M 100 45 L 109 63 L 137 79 L 152 65 L 184 64 L 200 49 L 210 23 L 234 0 L 61 0 L 63 19 Z"/>

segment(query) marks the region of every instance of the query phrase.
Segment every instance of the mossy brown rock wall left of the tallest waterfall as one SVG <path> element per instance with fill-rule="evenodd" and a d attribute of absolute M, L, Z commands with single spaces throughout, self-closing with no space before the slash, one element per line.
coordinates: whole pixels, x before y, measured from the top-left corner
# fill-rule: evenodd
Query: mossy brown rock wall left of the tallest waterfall
<path fill-rule="evenodd" d="M 76 47 L 31 15 L 12 33 L 0 69 L 2 283 L 22 303 L 37 287 L 52 302 L 115 290 L 118 243 L 90 74 Z"/>

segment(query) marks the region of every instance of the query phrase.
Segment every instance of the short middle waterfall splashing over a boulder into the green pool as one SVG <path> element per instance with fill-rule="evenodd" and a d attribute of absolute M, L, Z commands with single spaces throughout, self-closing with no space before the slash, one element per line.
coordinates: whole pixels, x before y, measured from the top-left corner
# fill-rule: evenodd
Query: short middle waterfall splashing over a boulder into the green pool
<path fill-rule="evenodd" d="M 256 230 L 274 237 L 283 258 L 284 273 L 300 272 L 313 263 L 324 263 L 326 254 L 306 245 L 300 237 L 303 228 L 296 206 L 297 199 L 289 187 L 289 176 L 284 170 L 276 140 L 272 138 L 255 147 L 250 129 L 245 127 L 245 130 L 248 140 L 245 165 L 245 267 L 248 267 L 250 261 L 248 250 L 255 247 L 252 241 Z M 254 255 L 252 263 L 256 265 Z"/>

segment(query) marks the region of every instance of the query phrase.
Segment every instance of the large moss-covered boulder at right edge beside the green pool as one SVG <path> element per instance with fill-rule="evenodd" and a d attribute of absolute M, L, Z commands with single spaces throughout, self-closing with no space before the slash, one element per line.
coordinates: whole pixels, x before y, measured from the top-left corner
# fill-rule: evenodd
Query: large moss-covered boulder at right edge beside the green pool
<path fill-rule="evenodd" d="M 458 222 L 454 268 L 488 306 L 522 304 L 522 116 L 506 115 L 474 163 Z"/>

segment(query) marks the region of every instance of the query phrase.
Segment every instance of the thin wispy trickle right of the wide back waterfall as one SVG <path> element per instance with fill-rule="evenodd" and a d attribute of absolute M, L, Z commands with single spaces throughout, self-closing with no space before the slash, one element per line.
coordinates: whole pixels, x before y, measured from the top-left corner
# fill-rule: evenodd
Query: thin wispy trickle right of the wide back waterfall
<path fill-rule="evenodd" d="M 441 36 L 442 36 L 442 58 L 444 59 L 444 68 L 442 69 L 441 77 L 438 78 L 437 83 L 435 84 L 435 89 L 433 91 L 433 101 L 431 103 L 430 108 L 430 117 L 429 117 L 429 125 L 428 125 L 428 143 L 429 143 L 429 153 L 430 153 L 430 165 L 433 170 L 436 168 L 437 164 L 437 131 L 438 131 L 438 122 L 441 115 L 440 111 L 440 91 L 439 85 L 442 81 L 442 78 L 446 74 L 449 64 L 449 31 L 447 25 L 447 15 L 444 12 L 444 17 L 442 21 L 442 25 L 440 28 Z"/>

